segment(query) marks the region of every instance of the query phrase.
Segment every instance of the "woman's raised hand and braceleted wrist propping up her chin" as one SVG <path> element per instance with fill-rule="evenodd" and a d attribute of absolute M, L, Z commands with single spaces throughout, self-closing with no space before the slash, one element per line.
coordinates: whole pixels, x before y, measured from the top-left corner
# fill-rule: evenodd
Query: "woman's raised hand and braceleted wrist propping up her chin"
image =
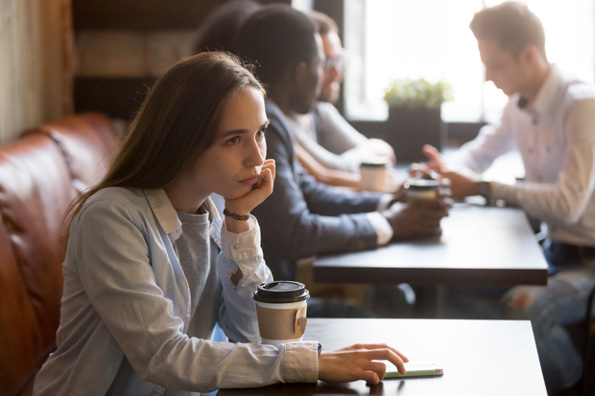
<path fill-rule="evenodd" d="M 248 191 L 245 195 L 242 195 L 236 199 L 226 199 L 225 209 L 231 213 L 237 213 L 240 215 L 250 214 L 252 209 L 257 207 L 262 201 L 266 199 L 273 192 L 273 185 L 275 181 L 275 160 L 268 159 L 264 161 L 260 175 L 258 176 L 258 182 L 253 188 Z M 226 221 L 227 228 L 231 232 L 243 232 L 246 231 L 247 222 L 232 220 Z M 236 223 L 245 223 L 243 226 Z"/>

